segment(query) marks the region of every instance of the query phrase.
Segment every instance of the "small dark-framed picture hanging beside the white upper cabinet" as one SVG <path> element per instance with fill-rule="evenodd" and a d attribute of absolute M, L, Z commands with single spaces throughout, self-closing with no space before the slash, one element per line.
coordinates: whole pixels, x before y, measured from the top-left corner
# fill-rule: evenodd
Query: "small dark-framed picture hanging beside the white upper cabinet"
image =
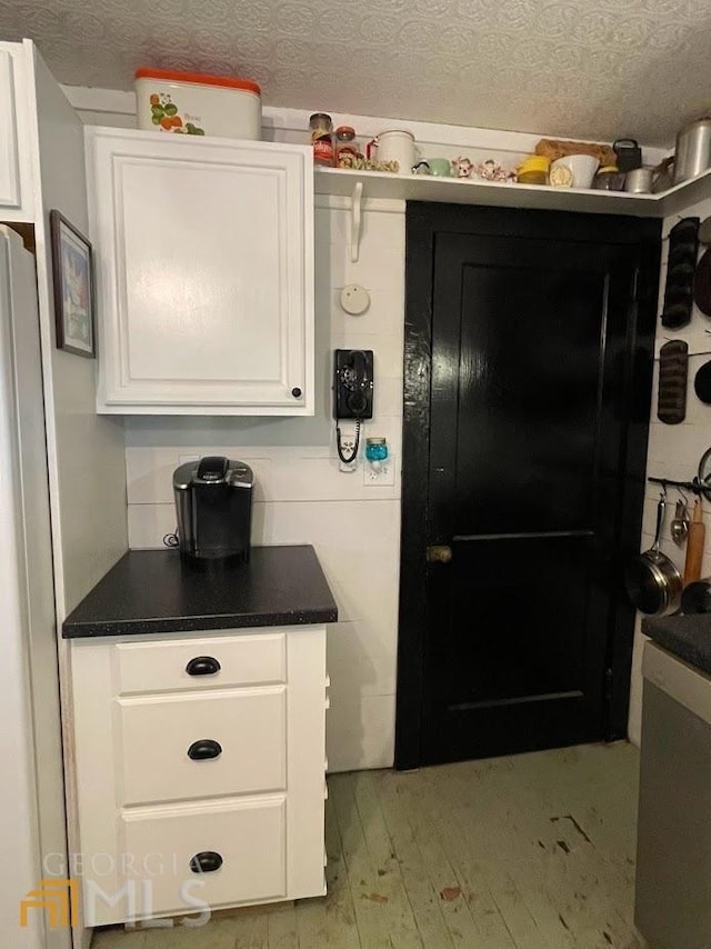
<path fill-rule="evenodd" d="M 91 244 L 59 211 L 50 211 L 57 348 L 93 359 L 94 298 Z"/>

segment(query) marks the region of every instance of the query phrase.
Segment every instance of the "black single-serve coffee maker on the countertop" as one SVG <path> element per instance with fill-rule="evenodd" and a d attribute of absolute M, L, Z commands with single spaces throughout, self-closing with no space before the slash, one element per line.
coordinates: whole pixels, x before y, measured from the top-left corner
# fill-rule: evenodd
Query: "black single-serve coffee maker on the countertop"
<path fill-rule="evenodd" d="M 173 472 L 180 553 L 190 561 L 249 560 L 252 469 L 211 456 Z"/>

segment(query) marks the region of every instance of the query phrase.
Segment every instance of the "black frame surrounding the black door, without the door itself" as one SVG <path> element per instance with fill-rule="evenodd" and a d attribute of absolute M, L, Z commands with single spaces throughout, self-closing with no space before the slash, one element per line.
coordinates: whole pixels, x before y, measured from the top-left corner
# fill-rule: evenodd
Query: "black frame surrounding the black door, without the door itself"
<path fill-rule="evenodd" d="M 621 451 L 627 472 L 620 500 L 619 576 L 639 552 L 644 500 L 647 442 L 652 391 L 661 227 L 659 219 L 567 211 L 408 202 L 405 214 L 404 403 L 402 431 L 402 526 L 395 711 L 395 768 L 421 763 L 424 638 L 427 629 L 428 499 L 432 281 L 438 231 L 632 244 L 639 248 L 637 296 L 630 303 L 627 346 L 628 431 Z M 475 228 L 475 231 L 472 229 Z M 632 473 L 630 473 L 632 472 Z M 622 583 L 614 597 L 608 643 L 609 741 L 627 737 L 634 609 Z"/>

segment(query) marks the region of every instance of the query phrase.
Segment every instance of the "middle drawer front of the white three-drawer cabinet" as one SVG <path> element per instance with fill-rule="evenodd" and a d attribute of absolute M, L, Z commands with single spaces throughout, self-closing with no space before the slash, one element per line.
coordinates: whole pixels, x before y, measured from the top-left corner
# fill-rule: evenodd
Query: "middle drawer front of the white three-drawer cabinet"
<path fill-rule="evenodd" d="M 123 805 L 286 788 L 284 686 L 120 699 L 118 708 Z"/>

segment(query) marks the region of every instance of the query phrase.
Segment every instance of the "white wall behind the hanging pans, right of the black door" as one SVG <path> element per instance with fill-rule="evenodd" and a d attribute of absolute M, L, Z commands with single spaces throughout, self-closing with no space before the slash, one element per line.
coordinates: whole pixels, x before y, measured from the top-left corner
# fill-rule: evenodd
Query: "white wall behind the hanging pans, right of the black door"
<path fill-rule="evenodd" d="M 711 214 L 711 199 L 693 204 L 684 210 L 684 217 L 699 217 L 701 220 Z M 657 312 L 661 313 L 664 297 L 664 283 L 667 280 L 667 259 L 669 254 L 669 231 L 679 222 L 679 217 L 664 220 L 662 231 L 662 267 L 659 287 L 659 307 Z M 691 322 L 679 330 L 662 327 L 658 320 L 657 338 L 654 343 L 654 383 L 652 389 L 652 404 L 650 412 L 649 450 L 647 459 L 647 474 L 654 478 L 671 478 L 675 481 L 690 481 L 697 473 L 699 459 L 711 446 L 711 406 L 701 402 L 693 390 L 693 379 L 697 370 L 711 359 L 711 321 L 694 306 Z M 681 424 L 669 426 L 660 422 L 657 418 L 657 394 L 659 382 L 659 350 L 670 339 L 681 339 L 689 343 L 689 383 L 687 389 L 687 418 Z M 680 495 L 673 490 L 668 491 L 668 508 L 664 523 L 661 550 L 670 557 L 677 567 L 683 572 L 685 548 L 677 547 L 670 538 L 669 525 L 674 516 L 674 506 Z M 690 502 L 693 496 L 688 495 Z M 657 517 L 657 501 L 659 500 L 659 487 L 647 483 L 644 497 L 644 518 L 642 522 L 641 550 L 648 550 L 654 540 L 654 523 Z M 704 521 L 707 525 L 707 537 L 711 538 L 711 506 L 704 502 Z M 711 545 L 707 545 L 703 558 L 702 576 L 711 576 Z M 630 691 L 630 739 L 639 745 L 641 730 L 641 700 L 642 700 L 642 676 L 641 661 L 642 648 L 647 637 L 641 633 L 642 617 L 637 617 L 637 629 L 634 636 L 634 656 L 632 660 L 632 681 Z"/>

